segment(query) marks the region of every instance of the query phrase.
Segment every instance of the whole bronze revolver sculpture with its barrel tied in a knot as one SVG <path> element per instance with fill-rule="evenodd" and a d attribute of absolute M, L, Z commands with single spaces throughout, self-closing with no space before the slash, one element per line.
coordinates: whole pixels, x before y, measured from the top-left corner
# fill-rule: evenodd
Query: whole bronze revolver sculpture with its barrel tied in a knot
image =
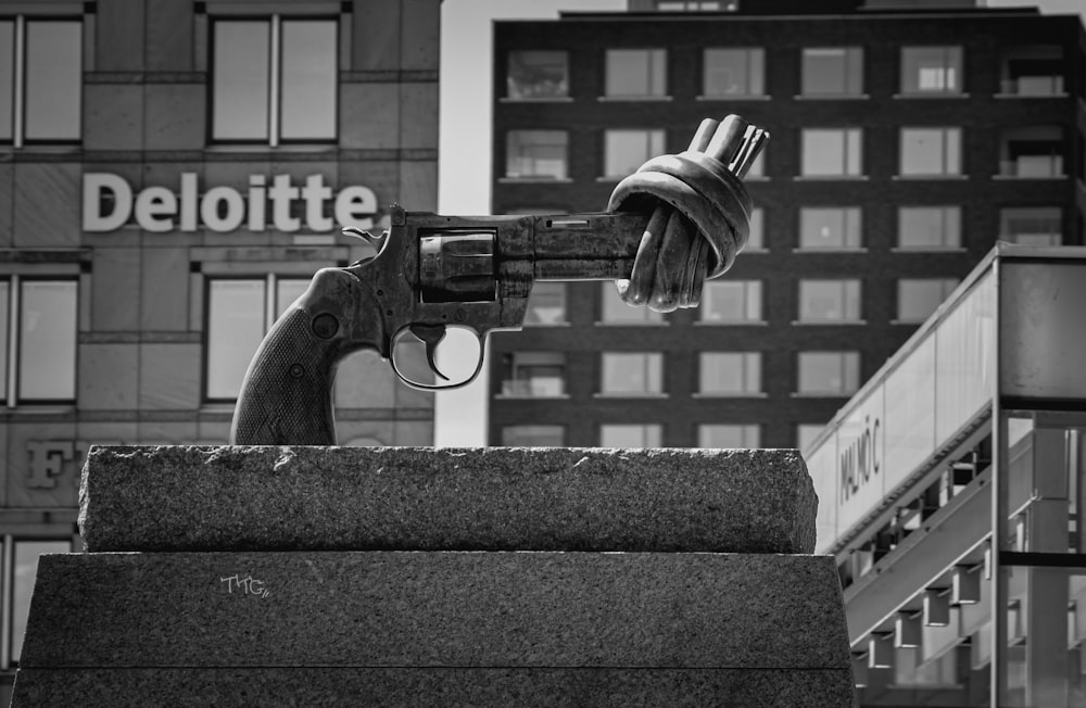
<path fill-rule="evenodd" d="M 334 445 L 336 368 L 358 350 L 389 359 L 414 388 L 469 383 L 487 333 L 520 329 L 536 280 L 616 280 L 631 305 L 696 305 L 704 280 L 731 267 L 746 244 L 752 204 L 741 179 L 768 137 L 735 115 L 706 118 L 686 151 L 654 157 L 620 181 L 603 213 L 463 217 L 393 205 L 391 233 L 344 229 L 377 255 L 318 270 L 275 323 L 245 372 L 231 444 Z M 462 380 L 447 380 L 434 357 L 451 327 L 479 344 Z M 425 344 L 442 381 L 406 375 L 395 351 L 408 337 Z"/>

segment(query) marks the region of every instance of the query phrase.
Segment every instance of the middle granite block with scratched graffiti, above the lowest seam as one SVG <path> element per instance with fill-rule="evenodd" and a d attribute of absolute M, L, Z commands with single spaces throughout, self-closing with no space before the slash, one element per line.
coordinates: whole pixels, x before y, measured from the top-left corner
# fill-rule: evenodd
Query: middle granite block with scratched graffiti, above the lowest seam
<path fill-rule="evenodd" d="M 20 666 L 842 669 L 836 573 L 770 554 L 47 555 Z"/>

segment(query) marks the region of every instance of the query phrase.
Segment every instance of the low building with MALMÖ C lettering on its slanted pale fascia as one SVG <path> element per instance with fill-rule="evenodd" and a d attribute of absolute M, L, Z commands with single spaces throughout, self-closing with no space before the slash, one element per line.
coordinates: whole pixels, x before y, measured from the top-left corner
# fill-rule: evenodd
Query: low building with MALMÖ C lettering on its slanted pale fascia
<path fill-rule="evenodd" d="M 860 706 L 1086 705 L 1084 299 L 999 244 L 804 451 Z"/>

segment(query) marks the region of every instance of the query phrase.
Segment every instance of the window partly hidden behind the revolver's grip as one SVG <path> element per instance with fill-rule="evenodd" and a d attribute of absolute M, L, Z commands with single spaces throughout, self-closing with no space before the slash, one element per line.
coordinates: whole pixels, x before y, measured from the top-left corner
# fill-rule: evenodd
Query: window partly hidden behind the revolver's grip
<path fill-rule="evenodd" d="M 209 401 L 238 397 L 245 369 L 264 333 L 310 280 L 302 278 L 215 279 L 207 283 Z"/>

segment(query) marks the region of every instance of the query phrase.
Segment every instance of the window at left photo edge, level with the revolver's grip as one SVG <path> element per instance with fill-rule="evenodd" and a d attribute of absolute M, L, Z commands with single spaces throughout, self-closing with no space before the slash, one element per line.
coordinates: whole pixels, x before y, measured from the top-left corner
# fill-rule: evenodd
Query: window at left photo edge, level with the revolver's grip
<path fill-rule="evenodd" d="M 8 406 L 75 401 L 78 292 L 74 279 L 0 280 L 0 397 Z"/>

